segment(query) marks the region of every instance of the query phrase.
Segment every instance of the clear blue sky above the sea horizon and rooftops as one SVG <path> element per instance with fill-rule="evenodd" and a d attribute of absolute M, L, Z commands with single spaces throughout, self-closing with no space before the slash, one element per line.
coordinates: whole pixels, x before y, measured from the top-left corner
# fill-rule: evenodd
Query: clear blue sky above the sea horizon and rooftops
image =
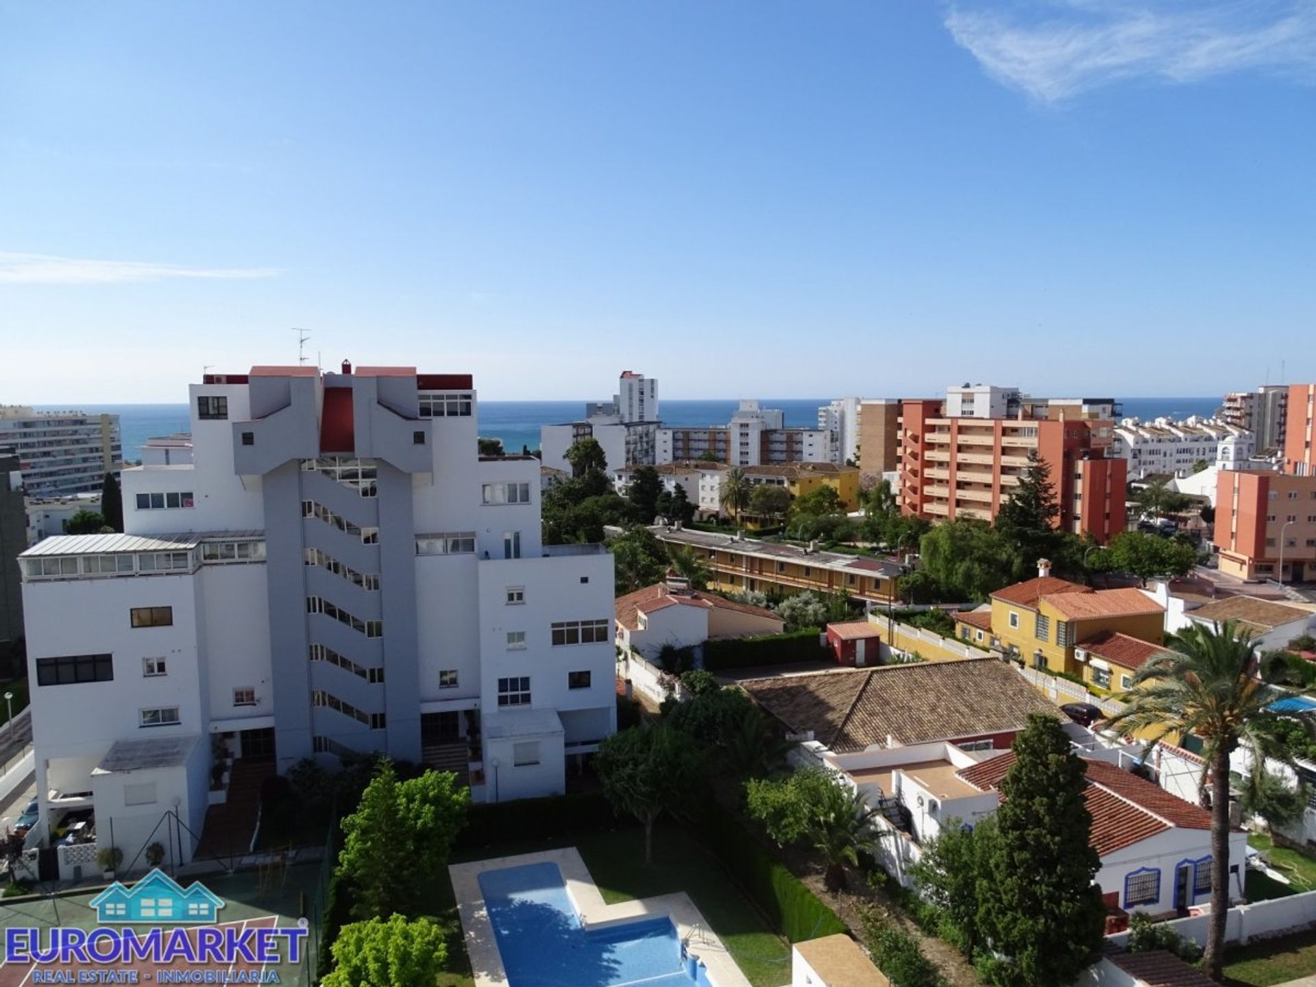
<path fill-rule="evenodd" d="M 0 400 L 1309 380 L 1313 175 L 1313 0 L 0 0 Z"/>

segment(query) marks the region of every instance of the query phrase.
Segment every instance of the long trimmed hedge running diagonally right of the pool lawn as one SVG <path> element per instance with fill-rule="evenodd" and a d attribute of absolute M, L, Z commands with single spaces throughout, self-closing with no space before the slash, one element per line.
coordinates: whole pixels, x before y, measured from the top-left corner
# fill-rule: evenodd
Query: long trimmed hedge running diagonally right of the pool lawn
<path fill-rule="evenodd" d="M 849 928 L 817 895 L 771 858 L 744 822 L 705 796 L 696 834 L 791 942 L 849 934 Z"/>

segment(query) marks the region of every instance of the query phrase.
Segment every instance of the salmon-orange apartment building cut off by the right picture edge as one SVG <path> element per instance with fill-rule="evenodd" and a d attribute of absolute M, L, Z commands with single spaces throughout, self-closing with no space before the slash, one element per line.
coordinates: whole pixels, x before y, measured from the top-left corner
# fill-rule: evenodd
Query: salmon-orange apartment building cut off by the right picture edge
<path fill-rule="evenodd" d="M 1238 579 L 1316 580 L 1316 384 L 1291 384 L 1284 471 L 1216 478 L 1220 571 Z"/>

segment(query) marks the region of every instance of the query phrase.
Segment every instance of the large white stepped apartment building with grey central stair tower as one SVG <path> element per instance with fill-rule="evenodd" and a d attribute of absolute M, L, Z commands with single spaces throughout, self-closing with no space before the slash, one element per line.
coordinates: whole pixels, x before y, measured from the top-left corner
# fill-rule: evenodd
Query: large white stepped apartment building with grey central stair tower
<path fill-rule="evenodd" d="M 616 729 L 612 557 L 541 544 L 540 463 L 478 455 L 470 376 L 253 367 L 190 403 L 193 462 L 122 472 L 124 534 L 20 557 L 37 830 L 200 833 L 216 737 L 562 792 Z"/>

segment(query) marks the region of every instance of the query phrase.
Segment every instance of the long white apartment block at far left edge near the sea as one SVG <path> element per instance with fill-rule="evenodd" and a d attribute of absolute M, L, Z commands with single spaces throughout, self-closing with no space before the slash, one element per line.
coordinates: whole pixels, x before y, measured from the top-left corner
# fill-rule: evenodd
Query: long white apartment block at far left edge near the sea
<path fill-rule="evenodd" d="M 28 495 L 38 497 L 99 491 L 105 474 L 124 462 L 117 415 L 0 405 L 0 449 L 5 447 L 22 463 Z"/>

